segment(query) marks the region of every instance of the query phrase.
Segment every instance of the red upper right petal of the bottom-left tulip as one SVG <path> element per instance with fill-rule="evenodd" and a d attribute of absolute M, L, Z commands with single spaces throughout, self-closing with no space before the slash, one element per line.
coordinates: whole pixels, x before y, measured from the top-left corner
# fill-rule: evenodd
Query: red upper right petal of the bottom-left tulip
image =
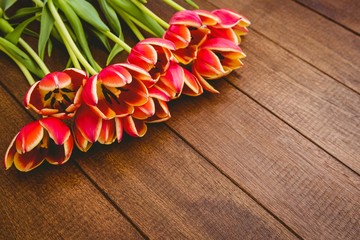
<path fill-rule="evenodd" d="M 53 139 L 57 145 L 64 144 L 71 135 L 69 127 L 58 118 L 43 118 L 40 119 L 39 122 L 41 126 L 47 130 L 50 138 Z"/>

